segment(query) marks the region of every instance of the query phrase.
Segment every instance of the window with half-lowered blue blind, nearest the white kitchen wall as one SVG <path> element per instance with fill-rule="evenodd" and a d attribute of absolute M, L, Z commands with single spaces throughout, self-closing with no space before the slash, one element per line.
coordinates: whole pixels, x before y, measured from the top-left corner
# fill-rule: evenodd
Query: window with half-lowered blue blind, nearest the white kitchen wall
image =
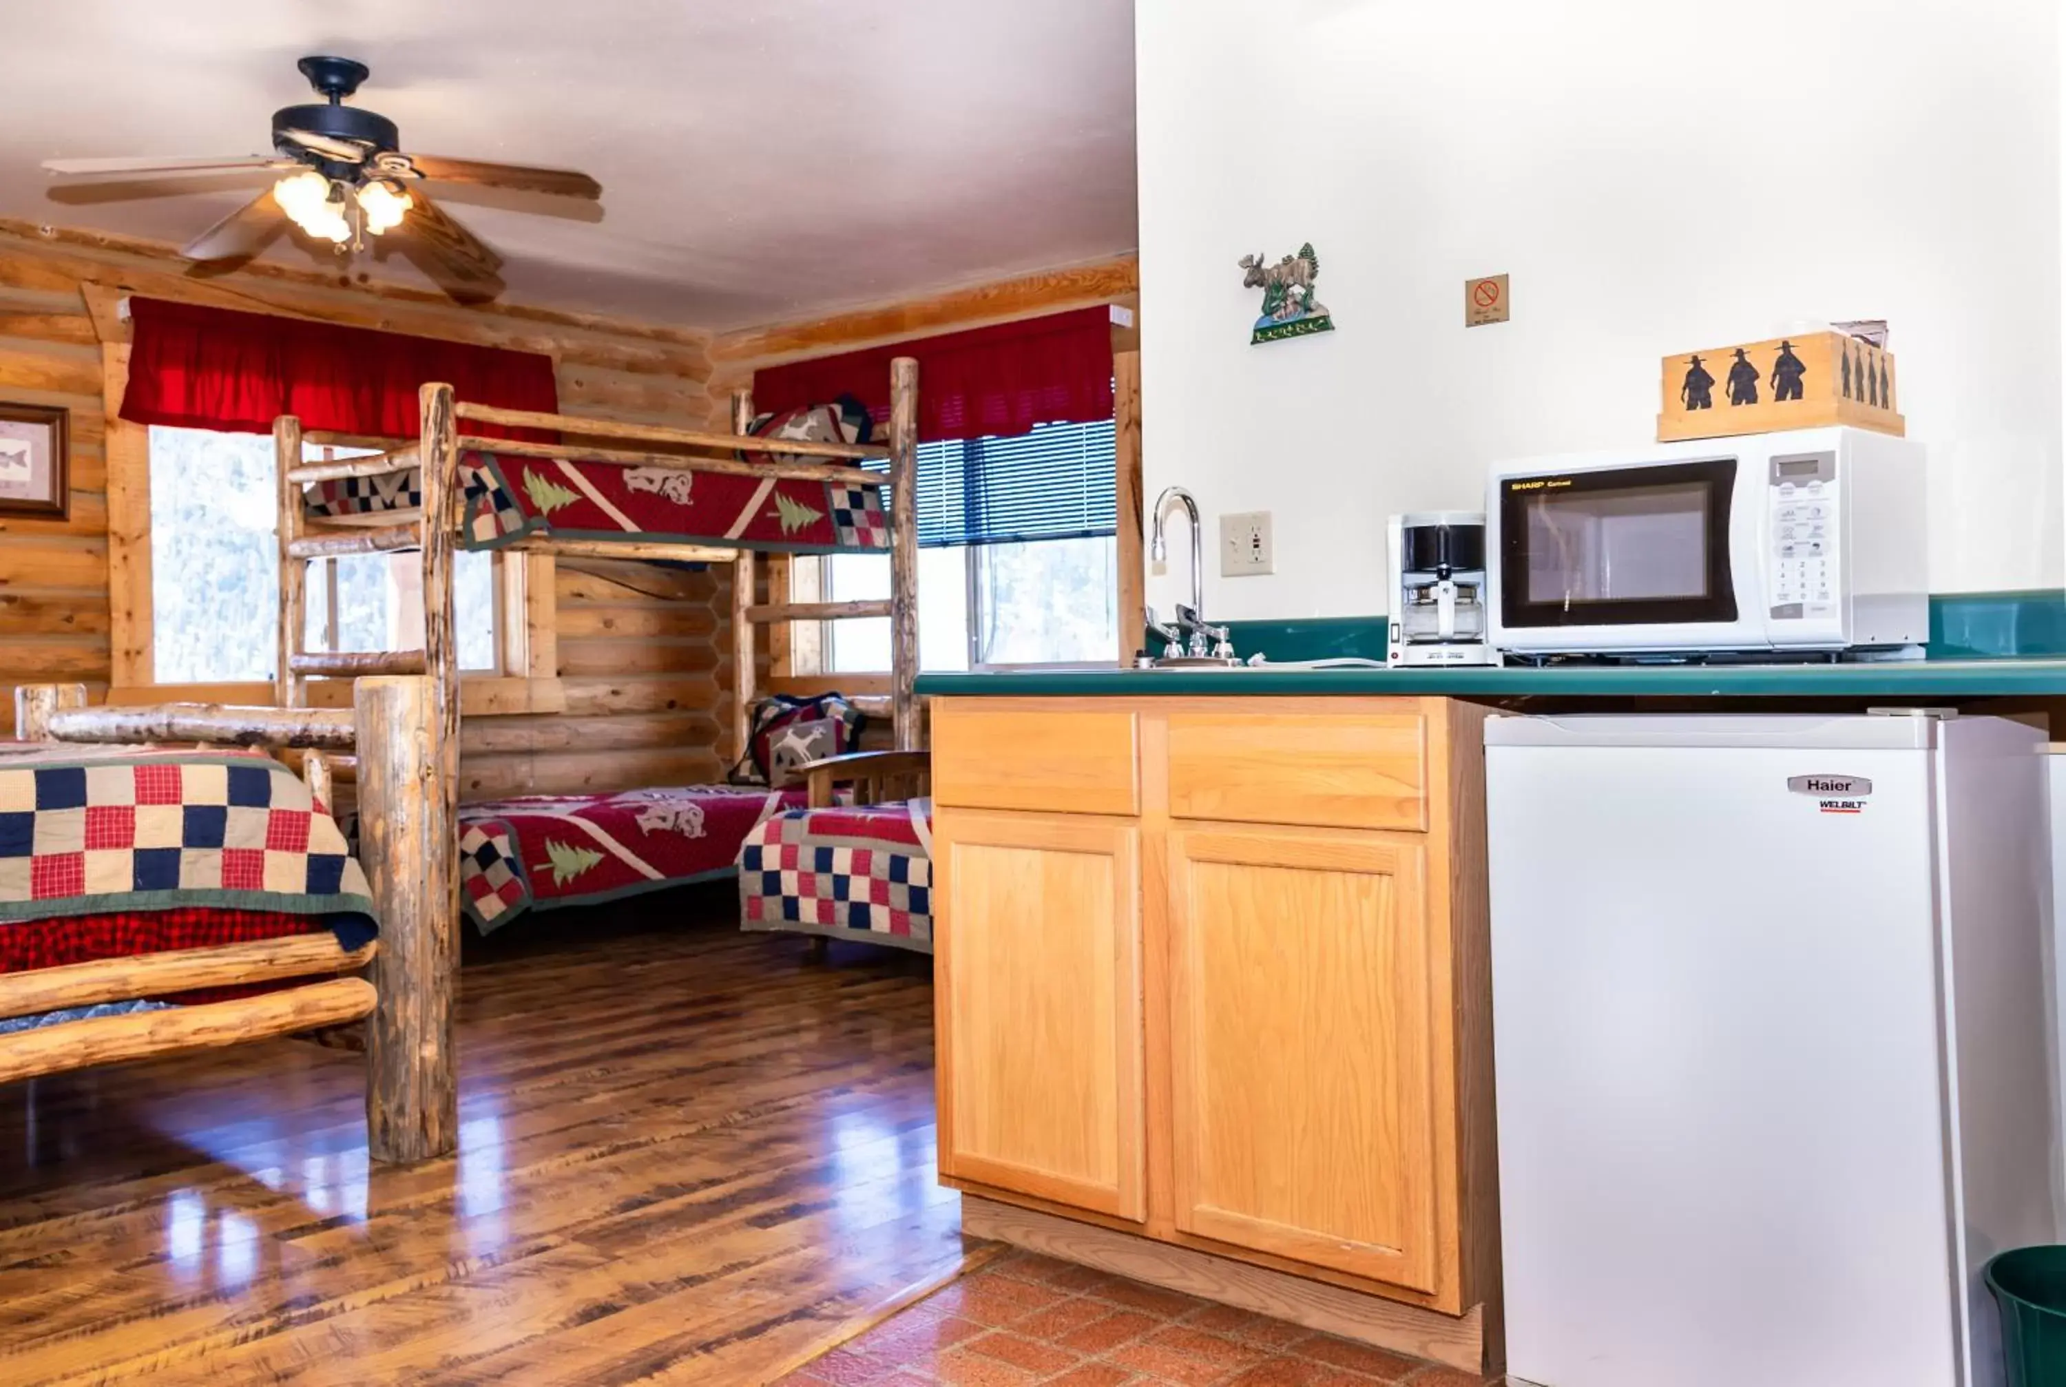
<path fill-rule="evenodd" d="M 1103 661 L 1118 649 L 1109 422 L 917 451 L 921 670 Z M 826 597 L 890 595 L 890 560 L 835 554 Z M 888 670 L 888 620 L 826 624 L 833 674 Z"/>

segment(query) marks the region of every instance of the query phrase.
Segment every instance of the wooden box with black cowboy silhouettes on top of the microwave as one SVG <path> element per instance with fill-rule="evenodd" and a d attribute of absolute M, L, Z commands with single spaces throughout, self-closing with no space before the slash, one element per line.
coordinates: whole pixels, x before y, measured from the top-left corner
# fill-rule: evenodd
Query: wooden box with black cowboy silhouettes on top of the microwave
<path fill-rule="evenodd" d="M 1845 333 L 1797 333 L 1665 358 L 1657 440 L 1855 424 L 1907 434 L 1895 358 Z"/>

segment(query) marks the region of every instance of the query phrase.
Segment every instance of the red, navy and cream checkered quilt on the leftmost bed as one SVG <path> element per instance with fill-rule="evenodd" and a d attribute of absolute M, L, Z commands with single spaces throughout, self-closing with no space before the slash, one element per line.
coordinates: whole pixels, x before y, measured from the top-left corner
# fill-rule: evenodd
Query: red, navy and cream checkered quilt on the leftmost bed
<path fill-rule="evenodd" d="M 188 905 L 341 916 L 362 943 L 374 922 L 337 823 L 264 752 L 0 757 L 0 926 Z"/>

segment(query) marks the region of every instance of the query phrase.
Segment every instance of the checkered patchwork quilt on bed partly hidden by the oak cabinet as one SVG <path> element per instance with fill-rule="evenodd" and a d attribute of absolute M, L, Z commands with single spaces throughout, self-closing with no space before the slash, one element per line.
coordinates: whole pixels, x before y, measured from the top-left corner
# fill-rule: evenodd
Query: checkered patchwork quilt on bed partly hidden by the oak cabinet
<path fill-rule="evenodd" d="M 740 928 L 932 953 L 932 800 L 762 823 L 740 847 Z"/>

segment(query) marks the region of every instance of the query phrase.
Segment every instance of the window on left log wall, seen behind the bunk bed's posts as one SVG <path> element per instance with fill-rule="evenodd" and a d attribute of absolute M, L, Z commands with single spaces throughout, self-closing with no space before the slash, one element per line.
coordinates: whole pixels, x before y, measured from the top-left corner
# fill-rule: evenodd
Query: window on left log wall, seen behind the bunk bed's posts
<path fill-rule="evenodd" d="M 322 451 L 310 449 L 310 457 Z M 277 504 L 271 436 L 151 428 L 151 630 L 159 684 L 273 678 Z M 417 562 L 415 554 L 310 560 L 304 649 L 419 647 Z M 494 556 L 457 556 L 452 599 L 463 670 L 496 668 L 496 589 Z"/>

